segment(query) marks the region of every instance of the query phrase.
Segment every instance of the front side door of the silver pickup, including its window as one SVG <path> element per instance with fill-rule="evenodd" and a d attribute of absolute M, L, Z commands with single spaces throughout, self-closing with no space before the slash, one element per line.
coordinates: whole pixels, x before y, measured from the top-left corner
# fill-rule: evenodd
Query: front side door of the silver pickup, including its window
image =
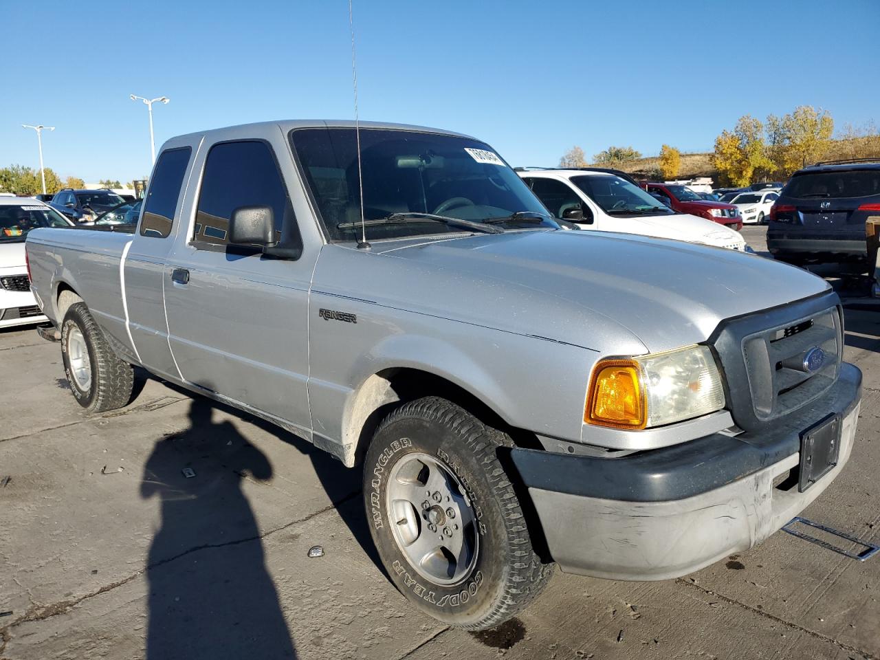
<path fill-rule="evenodd" d="M 227 238 L 234 209 L 268 206 L 281 241 L 301 241 L 275 158 L 286 150 L 277 136 L 275 149 L 269 140 L 206 144 L 203 168 L 201 157 L 196 163 L 201 187 L 188 209 L 189 226 L 180 230 L 187 235 L 179 236 L 165 266 L 165 311 L 172 354 L 186 381 L 311 437 L 307 311 L 319 245 L 312 242 L 299 259 L 287 260 Z"/>

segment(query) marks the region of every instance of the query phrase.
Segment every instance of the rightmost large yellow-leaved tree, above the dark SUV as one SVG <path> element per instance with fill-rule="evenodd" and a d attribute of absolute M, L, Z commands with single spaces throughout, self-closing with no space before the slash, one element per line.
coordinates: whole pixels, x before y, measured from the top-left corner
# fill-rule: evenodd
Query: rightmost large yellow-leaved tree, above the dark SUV
<path fill-rule="evenodd" d="M 834 120 L 813 106 L 797 106 L 791 114 L 767 117 L 767 136 L 774 170 L 783 176 L 820 160 L 831 145 Z"/>

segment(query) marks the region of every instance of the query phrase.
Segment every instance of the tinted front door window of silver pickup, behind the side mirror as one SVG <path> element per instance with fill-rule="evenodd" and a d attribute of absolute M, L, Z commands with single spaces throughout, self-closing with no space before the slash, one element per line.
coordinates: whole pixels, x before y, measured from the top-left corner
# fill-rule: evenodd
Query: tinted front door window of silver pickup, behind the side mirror
<path fill-rule="evenodd" d="M 192 239 L 199 244 L 229 243 L 232 212 L 242 206 L 268 206 L 275 219 L 275 235 L 296 231 L 287 187 L 267 143 L 258 141 L 215 144 L 205 159 L 202 190 L 195 213 Z"/>

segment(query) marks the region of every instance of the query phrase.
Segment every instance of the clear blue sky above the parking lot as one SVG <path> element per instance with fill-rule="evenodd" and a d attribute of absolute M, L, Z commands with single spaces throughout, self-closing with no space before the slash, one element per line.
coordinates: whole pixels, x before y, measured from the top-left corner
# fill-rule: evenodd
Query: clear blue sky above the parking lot
<path fill-rule="evenodd" d="M 472 134 L 513 165 L 574 144 L 710 149 L 742 114 L 809 104 L 880 123 L 880 2 L 354 0 L 362 120 Z M 351 118 L 347 0 L 0 0 L 0 166 L 85 180 L 150 170 L 156 142 L 274 119 Z M 39 22 L 38 22 L 39 20 Z"/>

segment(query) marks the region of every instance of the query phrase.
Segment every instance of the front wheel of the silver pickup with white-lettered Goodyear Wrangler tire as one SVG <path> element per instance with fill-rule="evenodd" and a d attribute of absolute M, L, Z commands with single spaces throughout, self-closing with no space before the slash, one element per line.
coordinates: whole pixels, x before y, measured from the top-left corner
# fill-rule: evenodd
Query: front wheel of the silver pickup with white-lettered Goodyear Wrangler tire
<path fill-rule="evenodd" d="M 423 612 L 467 630 L 510 619 L 553 573 L 532 548 L 502 446 L 512 446 L 506 434 L 426 397 L 385 418 L 364 464 L 370 533 L 392 582 Z"/>

